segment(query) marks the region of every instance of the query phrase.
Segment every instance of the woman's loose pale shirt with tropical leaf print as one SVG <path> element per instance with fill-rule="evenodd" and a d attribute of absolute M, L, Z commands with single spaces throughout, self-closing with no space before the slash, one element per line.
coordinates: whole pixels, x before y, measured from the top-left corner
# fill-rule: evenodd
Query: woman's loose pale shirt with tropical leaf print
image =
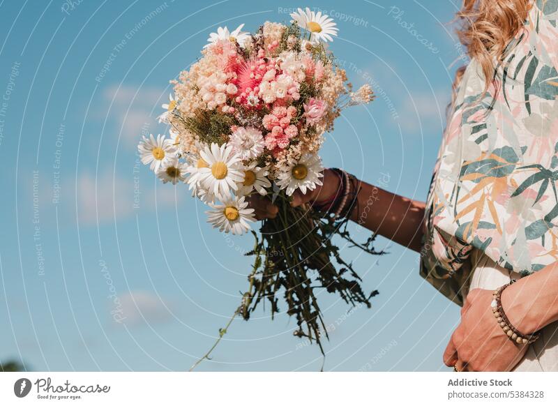
<path fill-rule="evenodd" d="M 536 1 L 488 93 L 474 60 L 458 88 L 421 252 L 421 276 L 455 303 L 471 250 L 524 276 L 558 260 L 557 17 L 558 0 Z"/>

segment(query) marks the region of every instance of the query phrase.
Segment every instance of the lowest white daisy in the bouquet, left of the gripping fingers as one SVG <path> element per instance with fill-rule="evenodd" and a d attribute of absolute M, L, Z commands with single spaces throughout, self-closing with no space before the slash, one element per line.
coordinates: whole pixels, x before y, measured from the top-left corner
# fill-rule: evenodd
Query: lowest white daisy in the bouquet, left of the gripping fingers
<path fill-rule="evenodd" d="M 211 207 L 213 210 L 206 211 L 207 221 L 221 232 L 243 234 L 251 228 L 248 222 L 255 221 L 254 209 L 247 209 L 244 197 L 231 196 L 223 204 L 211 204 Z"/>

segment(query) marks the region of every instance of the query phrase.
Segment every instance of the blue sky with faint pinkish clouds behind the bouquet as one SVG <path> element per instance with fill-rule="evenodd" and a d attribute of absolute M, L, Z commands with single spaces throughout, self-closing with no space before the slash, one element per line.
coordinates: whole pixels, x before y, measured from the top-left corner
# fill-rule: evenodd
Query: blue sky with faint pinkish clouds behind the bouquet
<path fill-rule="evenodd" d="M 377 93 L 338 119 L 324 164 L 424 200 L 462 63 L 447 24 L 457 1 L 0 2 L 0 360 L 186 370 L 211 346 L 246 289 L 252 237 L 212 230 L 184 186 L 138 165 L 137 140 L 165 132 L 168 81 L 209 33 L 286 22 L 299 6 L 336 20 L 331 49 Z M 334 327 L 324 369 L 445 370 L 458 307 L 418 276 L 416 253 L 377 248 L 389 254 L 343 248 L 380 292 L 371 309 L 319 294 Z M 236 320 L 199 370 L 319 370 L 295 321 L 266 310 Z"/>

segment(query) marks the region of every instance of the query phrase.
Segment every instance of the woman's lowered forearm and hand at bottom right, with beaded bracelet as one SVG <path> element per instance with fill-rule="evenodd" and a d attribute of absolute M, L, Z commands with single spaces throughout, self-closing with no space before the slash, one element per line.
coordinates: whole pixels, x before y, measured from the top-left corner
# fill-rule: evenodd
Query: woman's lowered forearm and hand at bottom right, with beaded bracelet
<path fill-rule="evenodd" d="M 459 370 L 511 370 L 527 345 L 514 343 L 492 315 L 492 290 L 469 292 L 461 322 L 444 353 L 444 363 Z M 558 320 L 558 262 L 521 278 L 502 292 L 502 308 L 522 334 L 534 333 Z"/>

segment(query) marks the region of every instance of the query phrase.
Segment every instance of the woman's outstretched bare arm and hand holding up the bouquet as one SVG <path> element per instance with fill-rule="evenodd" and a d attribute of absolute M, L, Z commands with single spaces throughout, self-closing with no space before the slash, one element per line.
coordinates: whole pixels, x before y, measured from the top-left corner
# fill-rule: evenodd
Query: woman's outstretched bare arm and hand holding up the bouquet
<path fill-rule="evenodd" d="M 303 195 L 297 190 L 293 195 L 293 206 L 306 202 L 325 202 L 338 193 L 340 180 L 331 170 L 324 170 L 324 185 L 309 190 Z M 368 230 L 377 232 L 402 246 L 415 251 L 421 250 L 422 224 L 425 204 L 395 195 L 368 183 L 361 183 L 358 204 L 354 206 L 350 219 Z M 277 207 L 269 200 L 252 197 L 250 205 L 255 208 L 257 218 L 273 218 Z"/>

